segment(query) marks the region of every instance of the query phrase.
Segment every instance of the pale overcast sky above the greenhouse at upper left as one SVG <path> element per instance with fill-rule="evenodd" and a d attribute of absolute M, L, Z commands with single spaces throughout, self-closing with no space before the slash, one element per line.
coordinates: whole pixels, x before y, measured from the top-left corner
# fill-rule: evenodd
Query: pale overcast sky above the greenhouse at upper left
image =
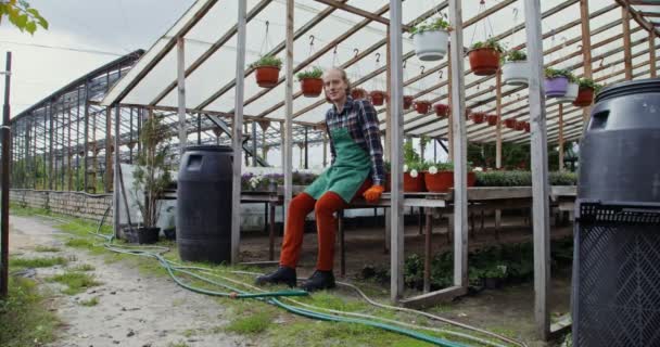
<path fill-rule="evenodd" d="M 118 56 L 148 50 L 193 2 L 29 0 L 49 21 L 49 30 L 39 28 L 30 36 L 4 21 L 0 25 L 2 69 L 5 52 L 13 55 L 12 116 Z M 3 81 L 0 95 L 4 94 Z"/>

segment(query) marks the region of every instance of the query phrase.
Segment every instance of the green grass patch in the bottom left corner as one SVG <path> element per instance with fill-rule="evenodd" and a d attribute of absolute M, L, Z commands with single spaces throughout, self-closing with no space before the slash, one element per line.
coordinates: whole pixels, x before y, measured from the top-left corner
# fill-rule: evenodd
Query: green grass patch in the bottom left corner
<path fill-rule="evenodd" d="M 58 317 L 46 307 L 36 283 L 9 279 L 9 297 L 0 300 L 0 346 L 41 346 L 55 339 Z"/>

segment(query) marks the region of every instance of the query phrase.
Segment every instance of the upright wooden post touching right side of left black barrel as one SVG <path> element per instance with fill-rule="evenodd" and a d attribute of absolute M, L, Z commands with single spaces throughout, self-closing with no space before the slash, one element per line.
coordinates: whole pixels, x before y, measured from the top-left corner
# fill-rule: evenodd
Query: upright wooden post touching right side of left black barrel
<path fill-rule="evenodd" d="M 236 99 L 231 142 L 233 145 L 233 182 L 231 189 L 231 264 L 239 262 L 241 237 L 241 153 L 243 150 L 243 95 L 245 92 L 245 41 L 248 0 L 238 3 L 236 55 Z"/>

